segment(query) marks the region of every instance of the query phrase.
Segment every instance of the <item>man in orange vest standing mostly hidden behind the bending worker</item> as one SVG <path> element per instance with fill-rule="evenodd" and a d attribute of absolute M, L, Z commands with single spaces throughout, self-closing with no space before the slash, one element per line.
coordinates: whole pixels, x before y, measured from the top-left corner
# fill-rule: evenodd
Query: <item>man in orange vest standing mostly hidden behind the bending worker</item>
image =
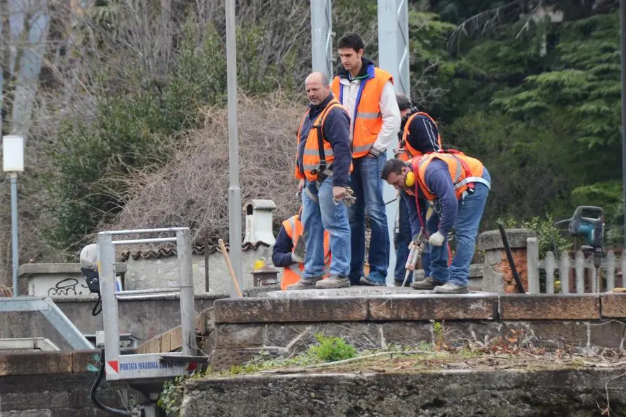
<path fill-rule="evenodd" d="M 428 114 L 420 112 L 415 108 L 406 94 L 396 92 L 396 101 L 400 108 L 402 116 L 401 129 L 399 136 L 399 149 L 395 149 L 396 158 L 402 161 L 408 161 L 417 155 L 428 154 L 429 152 L 437 152 L 442 149 L 441 137 L 437 129 L 435 120 Z M 398 198 L 398 223 L 396 225 L 396 233 L 394 234 L 394 246 L 396 248 L 396 266 L 394 268 L 394 286 L 401 286 L 404 281 L 406 270 L 406 260 L 408 258 L 408 245 L 411 243 L 411 227 L 408 215 L 408 208 L 403 198 Z M 424 224 L 426 229 L 435 229 L 439 223 L 439 216 L 435 211 L 428 210 L 428 204 L 424 199 L 420 199 L 422 203 L 420 213 L 422 219 L 420 224 Z M 446 268 L 448 265 L 447 245 L 443 250 L 433 250 L 435 257 L 431 259 L 431 247 L 426 245 L 422 252 L 422 268 L 424 268 L 424 276 L 430 277 L 431 270 L 438 268 Z M 436 274 L 435 274 L 436 275 Z M 407 284 L 410 284 L 408 281 Z"/>

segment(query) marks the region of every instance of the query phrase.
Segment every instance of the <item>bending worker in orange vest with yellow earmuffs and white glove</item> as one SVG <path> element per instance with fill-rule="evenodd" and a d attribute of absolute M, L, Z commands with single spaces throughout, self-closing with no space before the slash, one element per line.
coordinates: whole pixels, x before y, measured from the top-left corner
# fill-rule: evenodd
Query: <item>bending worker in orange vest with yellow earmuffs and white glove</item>
<path fill-rule="evenodd" d="M 428 237 L 431 256 L 433 249 L 443 250 L 453 227 L 456 231 L 456 254 L 449 268 L 441 268 L 437 276 L 433 273 L 412 287 L 441 294 L 467 293 L 476 231 L 491 188 L 491 178 L 483 163 L 460 152 L 438 152 L 415 156 L 406 162 L 387 161 L 381 177 L 401 190 L 408 206 L 412 236 L 420 230 L 418 198 L 426 199 L 439 213 L 439 229 Z"/>

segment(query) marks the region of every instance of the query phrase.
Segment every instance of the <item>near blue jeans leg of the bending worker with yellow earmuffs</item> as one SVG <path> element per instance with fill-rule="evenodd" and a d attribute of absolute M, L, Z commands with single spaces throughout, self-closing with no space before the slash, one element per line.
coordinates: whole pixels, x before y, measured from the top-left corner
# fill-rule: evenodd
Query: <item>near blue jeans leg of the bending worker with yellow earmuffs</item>
<path fill-rule="evenodd" d="M 486 168 L 483 170 L 483 178 L 491 181 Z M 449 268 L 447 281 L 467 286 L 470 277 L 470 263 L 474 257 L 474 245 L 476 245 L 476 232 L 478 231 L 485 203 L 489 195 L 489 188 L 485 184 L 474 184 L 474 193 L 467 194 L 458 202 L 458 213 L 454 229 L 456 230 L 456 254 Z"/>

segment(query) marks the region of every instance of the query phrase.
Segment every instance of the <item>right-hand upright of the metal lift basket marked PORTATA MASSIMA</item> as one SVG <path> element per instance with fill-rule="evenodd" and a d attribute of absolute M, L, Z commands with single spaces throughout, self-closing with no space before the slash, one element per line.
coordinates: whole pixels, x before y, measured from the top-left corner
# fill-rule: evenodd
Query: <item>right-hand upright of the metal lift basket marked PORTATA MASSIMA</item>
<path fill-rule="evenodd" d="M 195 298 L 193 297 L 193 271 L 191 267 L 191 231 L 176 231 L 178 253 L 178 280 L 180 286 L 180 330 L 183 356 L 195 352 Z"/>

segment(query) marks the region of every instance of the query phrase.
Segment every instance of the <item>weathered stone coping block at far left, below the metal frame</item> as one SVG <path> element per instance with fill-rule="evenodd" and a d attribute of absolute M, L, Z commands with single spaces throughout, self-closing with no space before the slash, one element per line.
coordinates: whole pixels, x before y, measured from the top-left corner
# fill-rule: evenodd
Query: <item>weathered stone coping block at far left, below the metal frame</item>
<path fill-rule="evenodd" d="M 0 354 L 0 376 L 72 372 L 71 352 Z"/>

